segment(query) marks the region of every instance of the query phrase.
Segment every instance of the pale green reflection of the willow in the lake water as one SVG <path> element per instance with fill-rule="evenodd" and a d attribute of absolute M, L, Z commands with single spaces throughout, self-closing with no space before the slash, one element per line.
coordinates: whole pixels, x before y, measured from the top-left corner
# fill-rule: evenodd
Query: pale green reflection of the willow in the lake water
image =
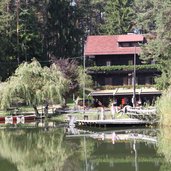
<path fill-rule="evenodd" d="M 0 131 L 0 156 L 10 161 L 19 171 L 60 171 L 69 153 L 63 144 L 63 129 Z M 4 168 L 3 170 L 9 170 Z"/>

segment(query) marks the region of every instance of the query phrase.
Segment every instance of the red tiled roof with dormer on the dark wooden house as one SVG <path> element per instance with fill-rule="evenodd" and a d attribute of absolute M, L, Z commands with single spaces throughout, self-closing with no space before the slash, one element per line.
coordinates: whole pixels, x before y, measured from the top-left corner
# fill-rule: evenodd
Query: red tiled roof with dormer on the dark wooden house
<path fill-rule="evenodd" d="M 88 36 L 85 55 L 122 55 L 122 54 L 139 54 L 140 47 L 119 47 L 118 41 L 121 42 L 141 42 L 143 35 L 106 35 L 106 36 Z"/>

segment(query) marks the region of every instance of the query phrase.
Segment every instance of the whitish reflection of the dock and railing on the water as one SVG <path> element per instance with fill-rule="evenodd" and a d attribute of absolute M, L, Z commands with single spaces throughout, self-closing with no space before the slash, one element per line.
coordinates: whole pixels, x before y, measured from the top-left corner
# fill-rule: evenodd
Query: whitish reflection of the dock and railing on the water
<path fill-rule="evenodd" d="M 156 129 L 126 129 L 126 130 L 109 130 L 102 132 L 93 132 L 75 127 L 67 128 L 67 137 L 91 137 L 103 141 L 111 141 L 115 144 L 117 141 L 140 140 L 148 143 L 157 143 Z"/>

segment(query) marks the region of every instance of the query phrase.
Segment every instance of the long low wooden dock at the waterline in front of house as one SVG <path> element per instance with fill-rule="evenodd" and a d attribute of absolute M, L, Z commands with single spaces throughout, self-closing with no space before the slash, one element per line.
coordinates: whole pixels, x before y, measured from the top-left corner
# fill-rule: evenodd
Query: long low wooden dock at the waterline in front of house
<path fill-rule="evenodd" d="M 151 122 L 139 119 L 106 119 L 106 120 L 74 120 L 71 119 L 69 124 L 85 126 L 133 126 L 133 125 L 150 125 Z"/>

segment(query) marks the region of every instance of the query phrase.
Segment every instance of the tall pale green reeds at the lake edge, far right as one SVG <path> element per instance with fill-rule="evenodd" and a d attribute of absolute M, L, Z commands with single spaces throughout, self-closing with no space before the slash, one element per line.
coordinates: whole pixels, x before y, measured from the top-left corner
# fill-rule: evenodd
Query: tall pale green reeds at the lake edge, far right
<path fill-rule="evenodd" d="M 171 88 L 166 90 L 157 100 L 156 107 L 160 116 L 161 126 L 171 126 Z"/>

